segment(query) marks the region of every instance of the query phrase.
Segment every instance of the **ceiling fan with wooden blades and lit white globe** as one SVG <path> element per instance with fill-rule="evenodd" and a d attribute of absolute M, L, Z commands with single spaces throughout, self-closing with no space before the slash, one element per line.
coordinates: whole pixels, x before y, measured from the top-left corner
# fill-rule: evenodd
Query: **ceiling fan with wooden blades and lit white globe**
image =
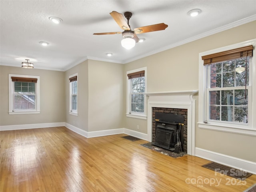
<path fill-rule="evenodd" d="M 94 33 L 94 35 L 112 35 L 112 34 L 121 34 L 122 33 L 122 36 L 124 39 L 121 41 L 121 44 L 126 49 L 130 49 L 130 48 L 134 47 L 135 43 L 139 41 L 139 38 L 136 34 L 165 30 L 168 27 L 168 25 L 166 25 L 164 23 L 159 23 L 159 24 L 134 28 L 134 31 L 133 31 L 133 30 L 131 30 L 130 25 L 129 25 L 129 20 L 132 17 L 131 12 L 124 13 L 124 16 L 126 17 L 127 22 L 124 19 L 124 16 L 116 11 L 112 11 L 110 13 L 110 15 L 116 21 L 116 23 L 120 26 L 120 28 L 123 29 L 124 31 L 123 32 Z"/>

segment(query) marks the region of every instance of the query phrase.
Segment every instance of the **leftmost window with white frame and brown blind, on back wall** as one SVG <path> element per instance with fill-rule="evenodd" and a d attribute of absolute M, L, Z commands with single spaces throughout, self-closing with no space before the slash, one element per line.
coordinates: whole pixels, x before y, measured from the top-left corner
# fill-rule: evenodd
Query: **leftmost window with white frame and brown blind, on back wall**
<path fill-rule="evenodd" d="M 9 74 L 9 114 L 40 113 L 39 76 Z"/>

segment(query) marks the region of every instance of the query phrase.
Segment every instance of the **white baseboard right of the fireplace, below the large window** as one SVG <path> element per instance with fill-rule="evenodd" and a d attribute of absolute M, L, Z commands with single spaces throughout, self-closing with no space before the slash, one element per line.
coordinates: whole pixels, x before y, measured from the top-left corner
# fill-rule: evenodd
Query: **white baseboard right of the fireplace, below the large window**
<path fill-rule="evenodd" d="M 241 169 L 246 172 L 256 174 L 256 162 L 228 156 L 225 154 L 216 153 L 213 151 L 205 150 L 202 148 L 195 149 L 195 156 L 204 158 L 216 163 L 220 163 L 226 166 L 230 166 L 236 169 Z"/>

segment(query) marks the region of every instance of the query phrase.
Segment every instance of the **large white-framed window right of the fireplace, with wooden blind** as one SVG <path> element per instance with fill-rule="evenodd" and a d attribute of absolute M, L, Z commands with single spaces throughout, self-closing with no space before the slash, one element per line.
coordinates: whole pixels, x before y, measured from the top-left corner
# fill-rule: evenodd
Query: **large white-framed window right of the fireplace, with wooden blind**
<path fill-rule="evenodd" d="M 199 54 L 200 128 L 256 134 L 250 131 L 256 130 L 255 45 L 250 40 Z"/>

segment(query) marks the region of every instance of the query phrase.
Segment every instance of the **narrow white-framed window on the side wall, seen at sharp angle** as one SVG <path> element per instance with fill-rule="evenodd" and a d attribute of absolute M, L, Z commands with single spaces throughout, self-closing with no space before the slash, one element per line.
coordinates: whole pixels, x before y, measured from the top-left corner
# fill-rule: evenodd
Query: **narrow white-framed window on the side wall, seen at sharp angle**
<path fill-rule="evenodd" d="M 70 114 L 77 115 L 78 114 L 78 84 L 77 84 L 78 75 L 75 74 L 69 77 L 70 84 Z"/>

